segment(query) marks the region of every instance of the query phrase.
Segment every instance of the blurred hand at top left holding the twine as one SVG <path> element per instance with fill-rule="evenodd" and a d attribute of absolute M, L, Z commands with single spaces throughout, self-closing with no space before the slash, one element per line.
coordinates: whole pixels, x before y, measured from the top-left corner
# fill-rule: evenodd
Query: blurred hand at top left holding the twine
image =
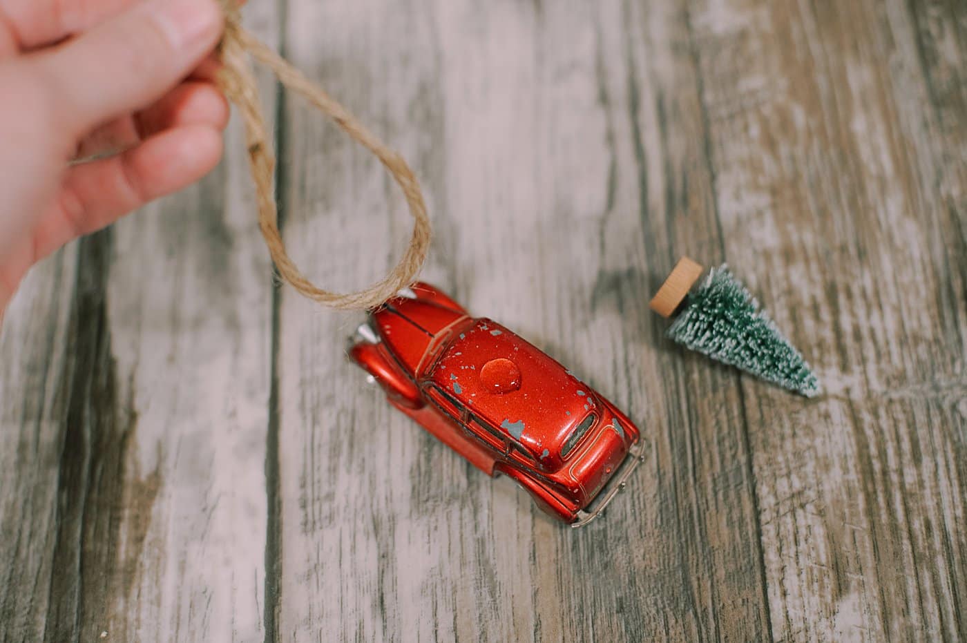
<path fill-rule="evenodd" d="M 0 316 L 31 265 L 218 164 L 221 25 L 215 0 L 0 0 Z"/>

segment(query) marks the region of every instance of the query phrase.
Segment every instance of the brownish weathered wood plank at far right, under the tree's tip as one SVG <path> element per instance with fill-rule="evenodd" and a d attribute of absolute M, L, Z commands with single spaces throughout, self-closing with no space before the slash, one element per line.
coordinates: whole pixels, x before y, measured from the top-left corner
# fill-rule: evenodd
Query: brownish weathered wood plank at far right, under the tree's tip
<path fill-rule="evenodd" d="M 743 383 L 773 633 L 962 638 L 963 103 L 901 3 L 691 4 L 726 255 L 828 387 Z"/>

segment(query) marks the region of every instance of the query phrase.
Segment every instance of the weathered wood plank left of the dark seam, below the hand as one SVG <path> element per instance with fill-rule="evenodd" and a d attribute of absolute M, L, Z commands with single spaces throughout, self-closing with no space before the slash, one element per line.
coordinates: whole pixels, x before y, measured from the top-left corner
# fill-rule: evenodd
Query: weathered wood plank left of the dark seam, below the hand
<path fill-rule="evenodd" d="M 275 40 L 276 3 L 250 4 Z M 7 316 L 0 640 L 264 638 L 272 286 L 236 130 Z"/>

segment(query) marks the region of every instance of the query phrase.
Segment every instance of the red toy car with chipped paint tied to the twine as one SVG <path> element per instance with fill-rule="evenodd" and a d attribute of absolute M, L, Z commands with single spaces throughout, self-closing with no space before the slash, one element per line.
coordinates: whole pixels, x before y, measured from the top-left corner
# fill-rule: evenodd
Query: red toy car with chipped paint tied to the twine
<path fill-rule="evenodd" d="M 640 431 L 611 402 L 425 283 L 370 313 L 349 356 L 396 408 L 572 526 L 599 515 L 642 459 Z"/>

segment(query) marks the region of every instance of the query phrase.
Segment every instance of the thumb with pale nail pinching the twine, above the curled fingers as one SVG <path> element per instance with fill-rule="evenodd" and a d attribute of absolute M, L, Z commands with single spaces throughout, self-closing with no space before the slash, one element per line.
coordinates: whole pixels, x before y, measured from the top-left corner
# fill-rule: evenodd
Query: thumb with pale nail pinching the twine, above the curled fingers
<path fill-rule="evenodd" d="M 149 0 L 36 62 L 80 136 L 160 99 L 218 44 L 221 25 L 215 0 Z"/>

